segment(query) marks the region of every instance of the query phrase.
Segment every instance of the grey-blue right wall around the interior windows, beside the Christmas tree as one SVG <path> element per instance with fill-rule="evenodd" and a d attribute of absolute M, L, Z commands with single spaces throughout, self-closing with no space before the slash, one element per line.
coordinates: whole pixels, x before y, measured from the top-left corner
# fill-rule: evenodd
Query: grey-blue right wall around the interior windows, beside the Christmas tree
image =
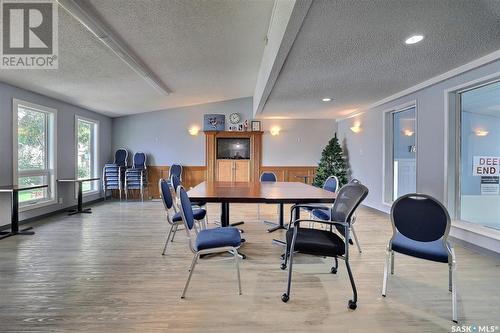
<path fill-rule="evenodd" d="M 415 93 L 366 111 L 358 117 L 339 121 L 338 131 L 345 140 L 354 177 L 370 189 L 365 204 L 388 212 L 383 203 L 383 117 L 384 111 L 417 102 L 417 191 L 445 202 L 445 90 L 500 72 L 500 61 L 457 75 Z M 349 130 L 361 123 L 358 134 Z"/>

